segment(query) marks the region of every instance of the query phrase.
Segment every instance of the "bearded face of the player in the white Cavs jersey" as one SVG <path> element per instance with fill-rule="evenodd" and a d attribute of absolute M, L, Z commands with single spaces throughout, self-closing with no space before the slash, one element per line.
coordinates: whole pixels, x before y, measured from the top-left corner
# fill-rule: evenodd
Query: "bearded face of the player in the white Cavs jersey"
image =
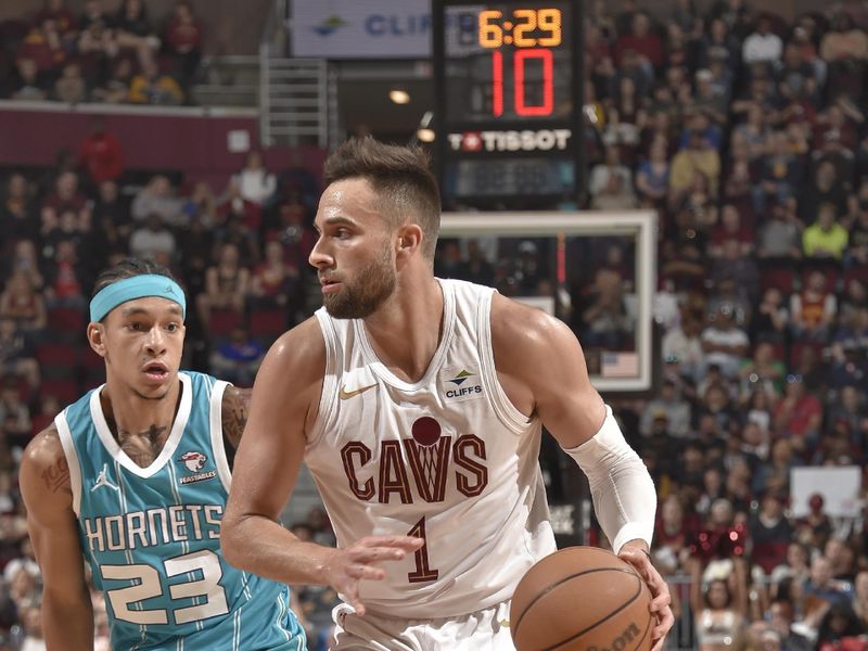
<path fill-rule="evenodd" d="M 332 183 L 320 199 L 319 232 L 309 261 L 322 286 L 322 302 L 336 319 L 362 319 L 395 291 L 395 233 L 380 215 L 376 195 L 360 178 Z"/>

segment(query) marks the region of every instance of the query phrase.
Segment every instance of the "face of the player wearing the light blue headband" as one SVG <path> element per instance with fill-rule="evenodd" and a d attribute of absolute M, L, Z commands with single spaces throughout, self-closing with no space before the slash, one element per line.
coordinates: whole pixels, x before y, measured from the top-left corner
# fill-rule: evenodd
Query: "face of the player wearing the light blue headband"
<path fill-rule="evenodd" d="M 178 380 L 183 352 L 180 306 L 156 296 L 128 301 L 108 312 L 102 329 L 102 346 L 94 349 L 112 382 L 144 399 L 165 397 Z"/>

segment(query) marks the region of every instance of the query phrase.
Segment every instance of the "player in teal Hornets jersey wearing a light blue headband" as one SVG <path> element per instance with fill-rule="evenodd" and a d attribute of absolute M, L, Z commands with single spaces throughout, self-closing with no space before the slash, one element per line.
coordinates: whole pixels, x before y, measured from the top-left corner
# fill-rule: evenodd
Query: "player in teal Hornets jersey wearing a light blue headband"
<path fill-rule="evenodd" d="M 238 445 L 247 392 L 178 370 L 186 301 L 165 268 L 126 260 L 94 292 L 87 335 L 106 382 L 35 437 L 21 468 L 48 649 L 93 649 L 84 557 L 115 651 L 304 650 L 286 587 L 220 553 L 225 439 Z"/>

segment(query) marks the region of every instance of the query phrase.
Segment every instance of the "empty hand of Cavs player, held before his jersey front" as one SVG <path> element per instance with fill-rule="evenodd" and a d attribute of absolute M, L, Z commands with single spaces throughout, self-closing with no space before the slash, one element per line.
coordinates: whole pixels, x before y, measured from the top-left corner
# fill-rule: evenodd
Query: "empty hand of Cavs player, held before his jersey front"
<path fill-rule="evenodd" d="M 385 571 L 379 566 L 383 561 L 400 561 L 408 553 L 421 549 L 424 538 L 411 536 L 369 536 L 345 549 L 336 549 L 326 565 L 326 580 L 359 615 L 365 614 L 365 604 L 359 600 L 359 582 L 382 580 Z"/>

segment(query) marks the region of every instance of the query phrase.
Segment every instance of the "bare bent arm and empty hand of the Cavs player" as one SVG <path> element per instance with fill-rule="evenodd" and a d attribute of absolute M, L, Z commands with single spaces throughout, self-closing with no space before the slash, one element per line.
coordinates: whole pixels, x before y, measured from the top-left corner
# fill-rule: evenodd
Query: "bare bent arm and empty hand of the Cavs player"
<path fill-rule="evenodd" d="M 235 456 L 220 544 L 235 567 L 290 585 L 330 585 L 363 614 L 359 580 L 382 579 L 385 573 L 376 563 L 403 559 L 423 540 L 379 536 L 334 549 L 302 541 L 280 524 L 306 433 L 316 422 L 324 369 L 326 345 L 316 318 L 283 334 L 263 360 Z"/>

